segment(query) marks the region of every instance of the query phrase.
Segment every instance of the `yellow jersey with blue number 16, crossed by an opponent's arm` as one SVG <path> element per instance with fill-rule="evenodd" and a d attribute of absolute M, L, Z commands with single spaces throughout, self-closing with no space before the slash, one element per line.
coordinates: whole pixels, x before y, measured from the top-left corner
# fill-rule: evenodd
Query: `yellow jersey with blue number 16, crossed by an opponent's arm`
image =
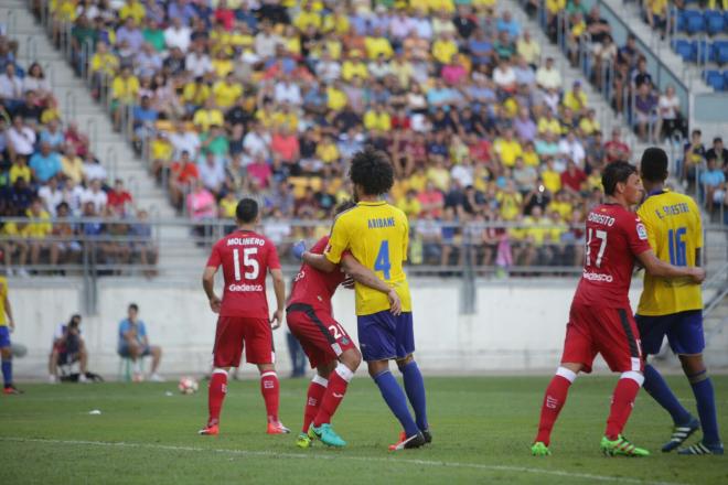
<path fill-rule="evenodd" d="M 700 212 L 690 197 L 670 191 L 651 194 L 638 211 L 657 258 L 673 266 L 696 266 L 703 247 Z M 638 314 L 670 315 L 703 309 L 700 285 L 688 278 L 668 280 L 644 276 Z"/>

